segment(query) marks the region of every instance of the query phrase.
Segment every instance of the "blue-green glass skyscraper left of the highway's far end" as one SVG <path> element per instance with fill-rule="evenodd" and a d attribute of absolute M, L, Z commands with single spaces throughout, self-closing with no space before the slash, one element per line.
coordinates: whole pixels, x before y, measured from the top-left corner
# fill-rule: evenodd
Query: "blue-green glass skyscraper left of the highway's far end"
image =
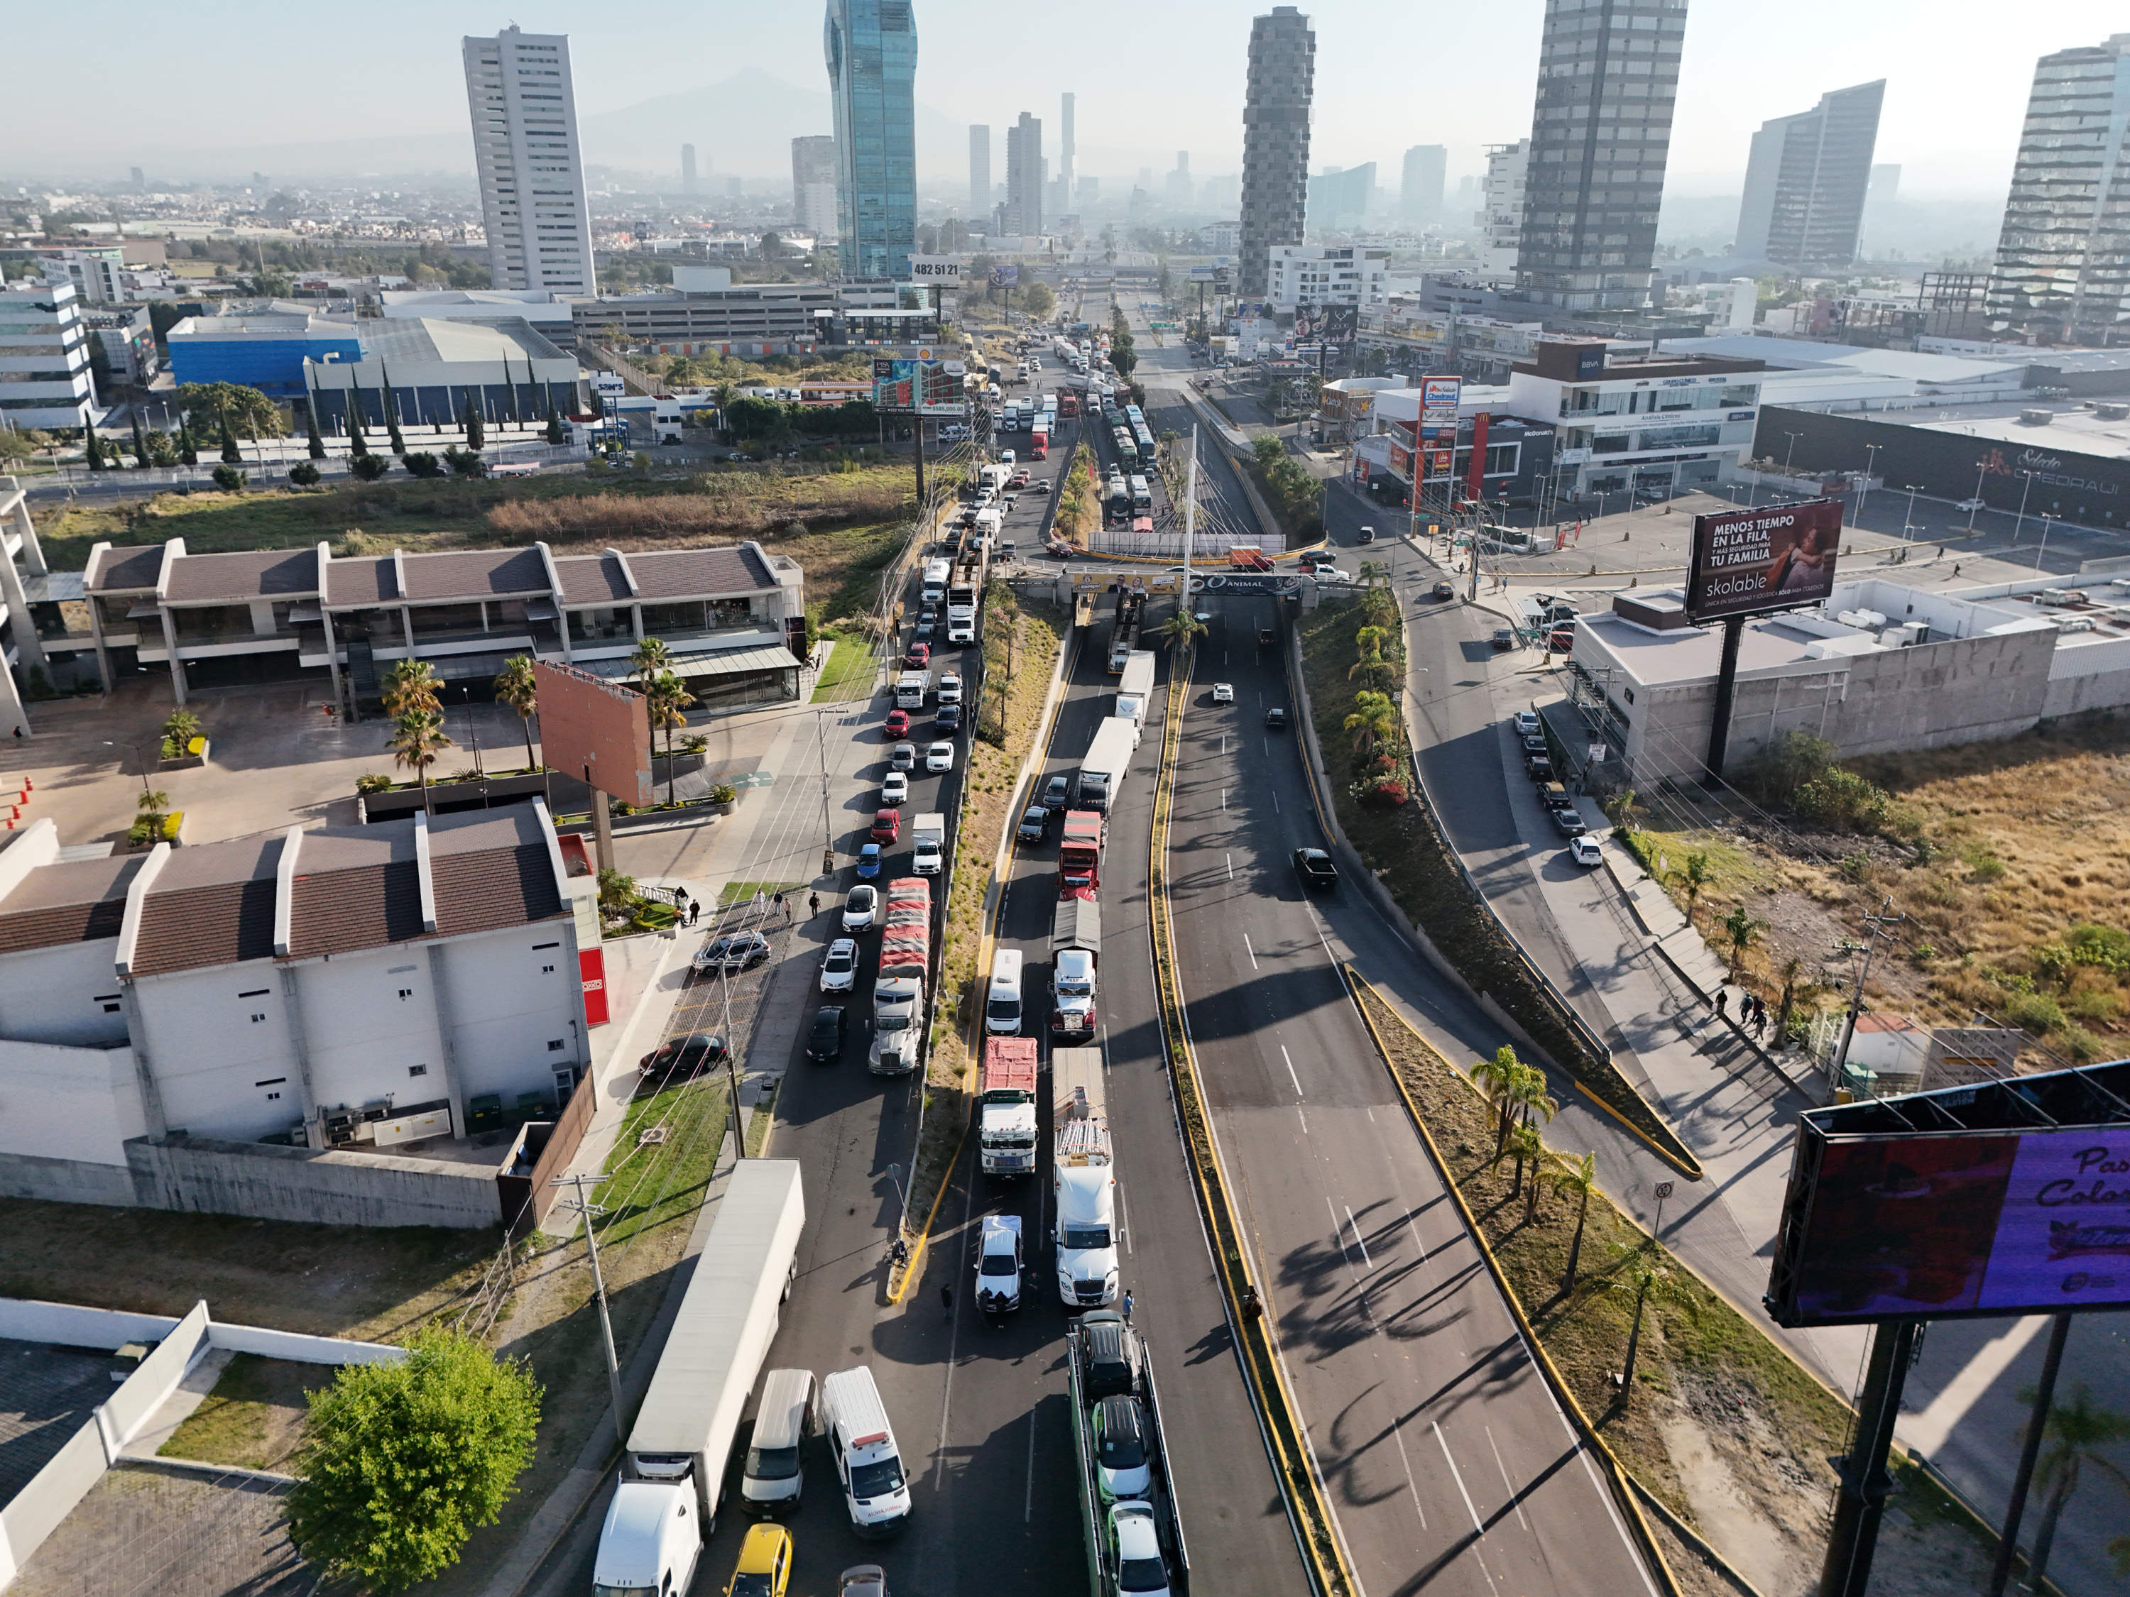
<path fill-rule="evenodd" d="M 910 0 L 829 0 L 843 277 L 903 277 L 918 243 L 918 26 Z"/>

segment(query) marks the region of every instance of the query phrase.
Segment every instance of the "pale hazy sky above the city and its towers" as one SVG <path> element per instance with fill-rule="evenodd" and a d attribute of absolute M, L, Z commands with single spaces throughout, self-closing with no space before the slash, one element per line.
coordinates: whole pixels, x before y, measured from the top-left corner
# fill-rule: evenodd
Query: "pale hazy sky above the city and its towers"
<path fill-rule="evenodd" d="M 1067 0 L 1052 6 L 914 0 L 918 98 L 958 121 L 1046 119 L 1078 94 L 1080 170 L 1167 170 L 1191 151 L 1199 175 L 1242 162 L 1242 83 L 1252 0 Z M 1312 166 L 1378 162 L 1397 181 L 1406 145 L 1451 147 L 1451 177 L 1480 147 L 1531 124 L 1540 0 L 1304 6 L 1316 26 Z M 818 0 L 586 9 L 552 0 L 371 0 L 290 11 L 283 0 L 130 6 L 113 21 L 111 70 L 11 72 L 0 160 L 34 172 L 45 155 L 141 160 L 145 147 L 241 147 L 290 138 L 464 132 L 458 38 L 518 21 L 569 32 L 581 113 L 613 111 L 754 66 L 822 87 Z M 1672 192 L 1736 192 L 1766 117 L 1821 92 L 1887 79 L 1879 160 L 1902 194 L 1998 196 L 2011 172 L 2034 57 L 2098 45 L 2130 26 L 2121 0 L 1693 0 L 1672 130 Z M 21 62 L 81 51 L 81 15 L 26 6 L 6 28 Z M 106 30 L 109 34 L 109 30 Z M 126 75 L 138 72 L 128 85 Z M 83 94 L 96 100 L 85 115 Z M 102 96 L 102 98 L 98 98 Z M 115 98 L 113 98 L 115 96 Z M 782 147 L 728 151 L 720 170 L 788 170 Z M 1003 155 L 995 158 L 1003 160 Z M 469 155 L 471 166 L 471 155 Z M 113 177 L 124 175 L 121 168 Z M 927 177 L 958 177 L 927 172 Z"/>

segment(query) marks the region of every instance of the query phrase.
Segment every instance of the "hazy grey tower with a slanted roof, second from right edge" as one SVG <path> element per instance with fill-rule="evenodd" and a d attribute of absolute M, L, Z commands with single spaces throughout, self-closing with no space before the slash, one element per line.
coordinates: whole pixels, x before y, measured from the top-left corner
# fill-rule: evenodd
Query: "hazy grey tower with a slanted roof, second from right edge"
<path fill-rule="evenodd" d="M 1885 79 L 1857 83 L 1759 126 L 1744 166 L 1738 256 L 1785 266 L 1855 260 L 1883 100 Z"/>

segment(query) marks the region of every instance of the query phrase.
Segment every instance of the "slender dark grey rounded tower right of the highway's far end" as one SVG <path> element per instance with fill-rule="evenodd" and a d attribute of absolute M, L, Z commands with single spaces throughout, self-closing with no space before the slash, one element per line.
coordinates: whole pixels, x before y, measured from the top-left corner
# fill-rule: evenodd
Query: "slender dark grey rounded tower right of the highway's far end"
<path fill-rule="evenodd" d="M 1265 298 L 1272 245 L 1299 245 L 1310 200 L 1310 96 L 1316 34 L 1297 6 L 1250 23 L 1242 102 L 1242 241 L 1235 294 Z"/>

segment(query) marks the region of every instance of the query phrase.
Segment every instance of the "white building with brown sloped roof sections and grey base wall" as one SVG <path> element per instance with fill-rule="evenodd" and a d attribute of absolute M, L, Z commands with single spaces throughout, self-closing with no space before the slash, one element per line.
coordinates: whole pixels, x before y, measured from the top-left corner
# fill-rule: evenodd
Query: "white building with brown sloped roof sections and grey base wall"
<path fill-rule="evenodd" d="M 484 1226 L 592 1063 L 545 805 L 0 852 L 0 1192 Z"/>

